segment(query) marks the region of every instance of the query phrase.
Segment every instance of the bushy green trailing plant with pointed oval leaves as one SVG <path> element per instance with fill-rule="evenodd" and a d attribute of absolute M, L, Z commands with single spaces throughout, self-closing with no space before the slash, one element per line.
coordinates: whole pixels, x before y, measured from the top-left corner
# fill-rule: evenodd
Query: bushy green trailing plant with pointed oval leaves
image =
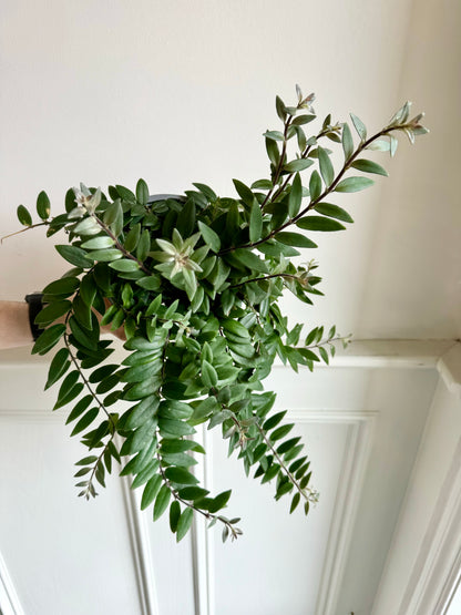
<path fill-rule="evenodd" d="M 393 155 L 396 134 L 413 142 L 428 132 L 422 114 L 409 119 L 406 103 L 372 136 L 352 114 L 358 140 L 348 123 L 332 124 L 329 115 L 308 136 L 314 95 L 304 98 L 299 88 L 297 95 L 295 106 L 277 96 L 283 129 L 264 135 L 270 177 L 249 187 L 234 180 L 237 197 L 194 184 L 184 196 L 153 198 L 140 180 L 135 192 L 115 185 L 107 194 L 81 184 L 66 193 L 65 213 L 55 217 L 42 192 L 38 224 L 18 207 L 28 228 L 44 225 L 48 237 L 64 229 L 69 240 L 55 248 L 73 267 L 43 289 L 47 305 L 35 322 L 44 330 L 32 353 L 61 342 L 45 389 L 61 381 L 53 410 L 72 407 L 71 435 L 80 434 L 89 449 L 76 463 L 79 495 L 94 498 L 113 460 L 123 463 L 120 474 L 143 489 L 141 508 L 153 505 L 154 521 L 170 506 L 178 541 L 194 512 L 209 525 L 219 522 L 223 540 L 242 533 L 239 520 L 222 512 L 230 491 L 211 494 L 194 475 L 197 455 L 205 454 L 193 438 L 201 423 L 222 430 L 247 474 L 275 483 L 276 500 L 288 495 L 290 513 L 303 502 L 307 514 L 317 501 L 300 438 L 286 412 L 273 412 L 275 392 L 262 382 L 276 357 L 295 371 L 313 370 L 320 360 L 328 363 L 335 342 L 347 340 L 335 327 L 290 328 L 278 301 L 286 289 L 305 304 L 321 295 L 314 260 L 298 265 L 293 258 L 317 247 L 310 232 L 352 223 L 331 197 L 371 186 L 362 173 L 387 175 L 363 155 Z M 339 171 L 326 141 L 342 146 Z M 107 361 L 113 340 L 100 339 L 101 326 L 123 328 L 122 365 Z"/>

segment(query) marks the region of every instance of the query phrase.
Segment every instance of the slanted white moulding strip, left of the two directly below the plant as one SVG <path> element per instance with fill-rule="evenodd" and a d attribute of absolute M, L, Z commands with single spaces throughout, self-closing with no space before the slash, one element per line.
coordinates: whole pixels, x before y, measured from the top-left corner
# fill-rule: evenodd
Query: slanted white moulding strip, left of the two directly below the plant
<path fill-rule="evenodd" d="M 155 574 L 151 557 L 151 543 L 145 516 L 141 513 L 141 501 L 136 490 L 131 489 L 131 479 L 122 476 L 123 503 L 133 554 L 137 591 L 142 615 L 160 615 Z"/>

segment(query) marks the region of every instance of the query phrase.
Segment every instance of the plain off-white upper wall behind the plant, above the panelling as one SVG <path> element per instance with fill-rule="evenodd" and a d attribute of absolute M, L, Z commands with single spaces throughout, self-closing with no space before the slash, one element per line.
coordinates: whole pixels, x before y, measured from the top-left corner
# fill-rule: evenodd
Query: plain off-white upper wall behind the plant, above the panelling
<path fill-rule="evenodd" d="M 33 208 L 45 188 L 59 213 L 80 181 L 143 176 L 153 193 L 198 181 L 234 194 L 232 177 L 267 173 L 262 133 L 277 127 L 275 94 L 293 100 L 296 82 L 317 93 L 320 116 L 354 111 L 370 130 L 410 98 L 431 135 L 414 148 L 402 140 L 375 191 L 338 198 L 356 225 L 319 236 L 307 256 L 327 297 L 287 306 L 356 337 L 455 336 L 457 0 L 3 0 L 0 10 L 2 235 L 18 228 L 19 203 Z M 0 264 L 0 297 L 12 299 L 65 269 L 42 229 L 4 242 Z"/>

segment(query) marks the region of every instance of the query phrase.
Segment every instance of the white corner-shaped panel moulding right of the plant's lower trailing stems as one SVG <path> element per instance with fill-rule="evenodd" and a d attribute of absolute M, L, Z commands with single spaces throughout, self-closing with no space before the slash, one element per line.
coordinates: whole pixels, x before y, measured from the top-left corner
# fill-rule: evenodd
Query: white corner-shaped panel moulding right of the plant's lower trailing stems
<path fill-rule="evenodd" d="M 342 472 L 320 577 L 316 615 L 332 615 L 346 571 L 347 556 L 368 465 L 378 412 L 338 410 L 288 411 L 287 419 L 303 423 L 349 424 Z"/>

